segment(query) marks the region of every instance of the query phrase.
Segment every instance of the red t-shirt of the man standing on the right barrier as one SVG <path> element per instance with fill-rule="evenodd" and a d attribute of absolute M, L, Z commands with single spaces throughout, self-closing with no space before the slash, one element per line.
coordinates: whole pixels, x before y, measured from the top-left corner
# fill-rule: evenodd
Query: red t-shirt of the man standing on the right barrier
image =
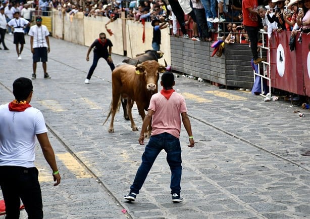
<path fill-rule="evenodd" d="M 258 6 L 257 0 L 243 0 L 242 1 L 242 14 L 243 14 L 243 25 L 250 27 L 259 26 L 259 21 L 257 14 L 251 14 L 247 9 L 252 8 L 253 11 L 256 11 Z"/>

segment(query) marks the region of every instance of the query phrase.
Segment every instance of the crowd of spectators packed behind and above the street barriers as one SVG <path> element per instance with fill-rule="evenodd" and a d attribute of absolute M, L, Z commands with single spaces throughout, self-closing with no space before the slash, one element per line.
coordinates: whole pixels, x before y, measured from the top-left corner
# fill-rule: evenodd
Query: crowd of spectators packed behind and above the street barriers
<path fill-rule="evenodd" d="M 248 0 L 243 0 L 243 2 Z M 254 0 L 254 2 L 257 0 Z M 193 40 L 216 40 L 218 33 L 225 43 L 248 43 L 247 32 L 242 24 L 242 0 L 5 0 L 0 3 L 5 8 L 7 22 L 13 19 L 15 11 L 21 17 L 31 20 L 32 11 L 48 15 L 51 9 L 75 15 L 106 16 L 111 22 L 125 11 L 126 18 L 134 22 L 167 22 L 171 34 Z M 252 9 L 257 16 L 260 31 L 310 32 L 310 0 L 259 0 Z M 29 29 L 25 30 L 27 33 Z M 11 34 L 11 30 L 8 29 Z M 189 34 L 190 33 L 190 34 Z"/>

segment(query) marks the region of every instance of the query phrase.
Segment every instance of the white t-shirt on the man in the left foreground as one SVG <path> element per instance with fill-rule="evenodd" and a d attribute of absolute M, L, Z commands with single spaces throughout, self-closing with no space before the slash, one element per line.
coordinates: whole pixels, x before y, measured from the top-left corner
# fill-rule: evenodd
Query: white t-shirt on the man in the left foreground
<path fill-rule="evenodd" d="M 34 167 L 35 138 L 47 133 L 42 113 L 33 107 L 23 112 L 0 106 L 0 166 Z"/>

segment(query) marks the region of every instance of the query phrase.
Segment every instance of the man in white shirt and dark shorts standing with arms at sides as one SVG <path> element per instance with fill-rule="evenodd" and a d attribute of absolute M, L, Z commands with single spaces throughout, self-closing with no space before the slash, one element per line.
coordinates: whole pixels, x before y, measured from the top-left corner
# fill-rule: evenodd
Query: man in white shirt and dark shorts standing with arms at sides
<path fill-rule="evenodd" d="M 37 16 L 35 18 L 36 25 L 33 25 L 29 30 L 30 35 L 30 48 L 32 53 L 32 68 L 33 74 L 31 79 L 36 78 L 36 63 L 42 62 L 44 71 L 44 78 L 50 78 L 46 72 L 47 53 L 49 53 L 49 39 L 48 29 L 45 25 L 42 25 L 42 18 Z"/>

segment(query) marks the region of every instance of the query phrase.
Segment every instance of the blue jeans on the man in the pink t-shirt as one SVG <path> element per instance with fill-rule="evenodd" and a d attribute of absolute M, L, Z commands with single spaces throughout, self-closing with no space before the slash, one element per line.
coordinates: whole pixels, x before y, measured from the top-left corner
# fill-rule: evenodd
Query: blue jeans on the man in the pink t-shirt
<path fill-rule="evenodd" d="M 141 189 L 150 168 L 163 149 L 167 153 L 166 159 L 171 170 L 171 194 L 180 194 L 182 176 L 181 145 L 178 138 L 168 133 L 162 133 L 150 137 L 142 155 L 142 163 L 139 166 L 136 177 L 130 187 L 130 192 L 139 194 L 139 190 Z"/>

